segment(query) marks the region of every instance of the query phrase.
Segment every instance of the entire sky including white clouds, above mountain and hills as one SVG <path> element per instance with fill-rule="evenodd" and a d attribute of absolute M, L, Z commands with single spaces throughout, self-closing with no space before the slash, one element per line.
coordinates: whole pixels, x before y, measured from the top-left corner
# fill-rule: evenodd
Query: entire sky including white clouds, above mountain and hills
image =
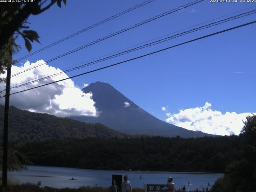
<path fill-rule="evenodd" d="M 41 42 L 32 45 L 33 51 L 46 49 L 12 67 L 12 75 L 22 73 L 12 77 L 11 93 L 23 92 L 12 94 L 10 104 L 61 117 L 96 115 L 93 93 L 81 89 L 100 81 L 164 122 L 210 134 L 239 134 L 242 120 L 256 113 L 256 26 L 196 39 L 253 22 L 256 4 L 202 1 L 180 7 L 189 3 L 150 2 L 49 48 L 84 26 L 133 8 L 138 1 L 74 0 L 62 9 L 56 5 L 31 16 L 29 27 L 38 32 Z M 180 9 L 72 52 L 174 8 Z M 13 55 L 14 60 L 28 55 L 24 40 L 18 37 L 16 43 L 22 49 Z M 171 50 L 160 51 L 166 48 Z M 48 83 L 52 84 L 44 86 Z M 1 83 L 0 90 L 4 88 Z"/>

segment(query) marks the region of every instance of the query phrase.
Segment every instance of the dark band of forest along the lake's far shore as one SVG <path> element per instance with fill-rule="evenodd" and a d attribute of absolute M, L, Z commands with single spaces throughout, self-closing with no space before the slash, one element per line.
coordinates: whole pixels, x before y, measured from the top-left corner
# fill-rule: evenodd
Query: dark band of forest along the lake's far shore
<path fill-rule="evenodd" d="M 110 170 L 224 172 L 238 158 L 239 136 L 64 138 L 12 143 L 36 165 Z"/>

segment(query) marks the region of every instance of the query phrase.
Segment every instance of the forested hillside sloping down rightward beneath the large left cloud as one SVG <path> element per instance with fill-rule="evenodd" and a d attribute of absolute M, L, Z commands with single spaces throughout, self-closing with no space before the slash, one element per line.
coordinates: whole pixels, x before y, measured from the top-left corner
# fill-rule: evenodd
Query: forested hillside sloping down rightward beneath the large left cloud
<path fill-rule="evenodd" d="M 4 106 L 0 105 L 0 138 L 2 140 Z M 28 141 L 57 138 L 123 138 L 129 135 L 112 130 L 103 124 L 88 124 L 69 118 L 19 110 L 10 106 L 9 140 Z"/>

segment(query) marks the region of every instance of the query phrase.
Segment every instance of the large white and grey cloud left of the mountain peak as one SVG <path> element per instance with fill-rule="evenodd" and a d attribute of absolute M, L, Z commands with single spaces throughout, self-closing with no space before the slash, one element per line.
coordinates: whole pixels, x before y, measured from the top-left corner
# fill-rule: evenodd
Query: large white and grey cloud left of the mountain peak
<path fill-rule="evenodd" d="M 20 67 L 13 66 L 12 74 L 16 74 L 42 63 L 44 63 L 44 61 L 40 60 L 32 64 L 30 64 L 30 62 L 26 62 L 24 66 Z M 12 77 L 11 86 L 40 76 L 55 74 L 58 72 L 62 72 L 62 70 L 44 64 L 38 68 L 28 70 Z M 1 75 L 1 77 L 4 76 L 5 75 Z M 54 82 L 63 78 L 68 78 L 68 76 L 64 73 L 37 83 L 11 89 L 11 93 Z M 0 89 L 2 90 L 4 87 L 5 84 L 1 83 Z M 0 99 L 0 104 L 4 104 L 4 99 Z M 74 85 L 74 82 L 71 79 L 10 96 L 10 105 L 14 105 L 17 108 L 30 110 L 32 112 L 53 114 L 60 117 L 82 115 L 98 116 L 94 104 L 95 103 L 92 100 L 92 93 L 85 94 L 80 90 L 80 88 Z"/>

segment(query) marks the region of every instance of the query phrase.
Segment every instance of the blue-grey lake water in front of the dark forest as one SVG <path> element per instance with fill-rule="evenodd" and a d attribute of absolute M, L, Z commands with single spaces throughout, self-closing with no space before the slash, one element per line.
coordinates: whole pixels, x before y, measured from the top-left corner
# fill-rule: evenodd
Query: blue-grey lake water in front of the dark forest
<path fill-rule="evenodd" d="M 79 186 L 111 186 L 112 174 L 128 174 L 132 187 L 144 188 L 144 184 L 166 184 L 169 176 L 173 177 L 175 188 L 186 185 L 187 190 L 206 188 L 208 182 L 212 185 L 222 173 L 194 173 L 194 172 L 163 172 L 163 171 L 117 171 L 90 170 L 64 167 L 29 166 L 27 170 L 9 172 L 8 179 L 20 183 L 34 183 L 41 181 L 41 186 L 56 188 L 78 188 Z M 142 179 L 140 179 L 142 176 Z M 76 180 L 70 180 L 74 178 Z M 188 182 L 190 185 L 188 186 Z M 210 187 L 208 187 L 210 188 Z"/>

